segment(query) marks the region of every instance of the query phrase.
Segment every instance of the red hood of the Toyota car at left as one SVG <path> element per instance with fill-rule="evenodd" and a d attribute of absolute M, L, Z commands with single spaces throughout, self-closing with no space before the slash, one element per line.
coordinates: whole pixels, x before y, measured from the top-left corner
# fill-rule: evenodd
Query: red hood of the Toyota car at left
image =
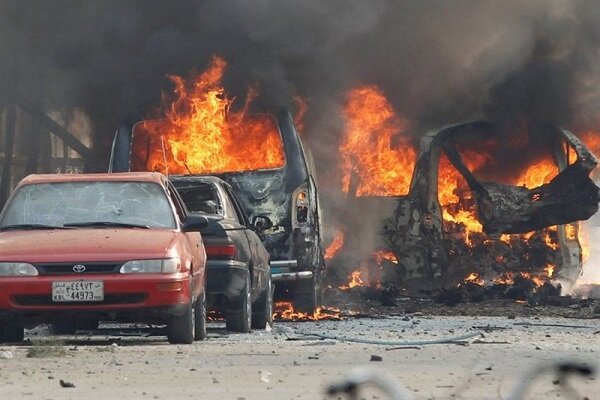
<path fill-rule="evenodd" d="M 168 229 L 58 229 L 0 233 L 0 262 L 90 262 L 163 258 Z"/>

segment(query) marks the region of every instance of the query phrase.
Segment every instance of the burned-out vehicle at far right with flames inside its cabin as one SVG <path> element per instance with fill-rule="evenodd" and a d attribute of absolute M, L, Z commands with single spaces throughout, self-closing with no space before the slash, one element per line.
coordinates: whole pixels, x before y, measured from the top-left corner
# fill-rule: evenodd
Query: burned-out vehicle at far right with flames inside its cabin
<path fill-rule="evenodd" d="M 499 154 L 497 165 L 486 167 L 491 148 Z M 454 190 L 453 204 L 440 202 L 442 159 L 465 183 Z M 524 160 L 546 161 L 555 176 L 533 187 L 506 183 Z M 455 285 L 469 270 L 501 275 L 552 268 L 546 278 L 574 281 L 582 267 L 576 221 L 598 211 L 598 187 L 589 176 L 596 165 L 575 135 L 554 126 L 536 126 L 511 138 L 495 124 L 475 121 L 426 134 L 410 191 L 398 198 L 384 227 L 403 279 Z M 470 238 L 465 224 L 446 218 L 460 212 L 472 213 L 480 224 Z"/>

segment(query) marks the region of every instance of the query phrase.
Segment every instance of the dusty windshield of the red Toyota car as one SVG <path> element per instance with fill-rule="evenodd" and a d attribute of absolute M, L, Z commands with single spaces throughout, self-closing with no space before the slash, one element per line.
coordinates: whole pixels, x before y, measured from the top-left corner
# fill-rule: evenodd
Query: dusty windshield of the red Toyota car
<path fill-rule="evenodd" d="M 150 182 L 58 182 L 20 187 L 2 217 L 13 225 L 175 228 L 173 211 L 160 185 Z"/>

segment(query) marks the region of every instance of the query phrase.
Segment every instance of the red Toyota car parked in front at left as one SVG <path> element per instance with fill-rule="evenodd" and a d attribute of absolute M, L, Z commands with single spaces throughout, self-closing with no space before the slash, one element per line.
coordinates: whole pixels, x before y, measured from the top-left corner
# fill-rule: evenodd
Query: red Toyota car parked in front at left
<path fill-rule="evenodd" d="M 159 173 L 28 176 L 0 214 L 0 342 L 98 321 L 204 339 L 206 225 Z"/>

